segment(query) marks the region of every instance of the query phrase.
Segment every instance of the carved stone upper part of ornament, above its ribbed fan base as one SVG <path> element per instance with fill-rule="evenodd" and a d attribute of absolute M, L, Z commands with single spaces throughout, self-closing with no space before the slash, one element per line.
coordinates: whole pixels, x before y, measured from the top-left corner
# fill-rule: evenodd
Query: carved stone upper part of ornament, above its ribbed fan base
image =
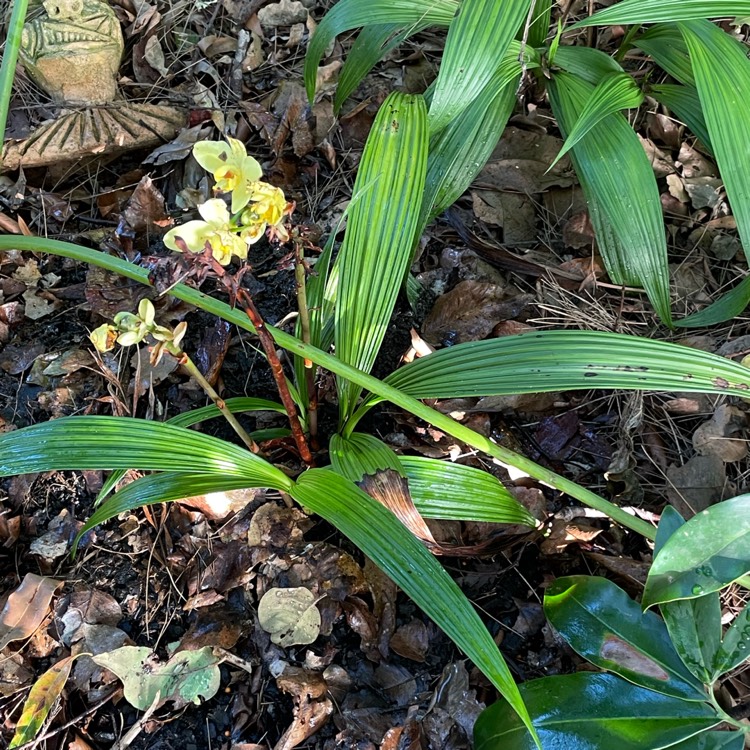
<path fill-rule="evenodd" d="M 59 104 L 115 98 L 124 49 L 114 11 L 102 0 L 43 0 L 44 14 L 25 24 L 21 60 Z"/>

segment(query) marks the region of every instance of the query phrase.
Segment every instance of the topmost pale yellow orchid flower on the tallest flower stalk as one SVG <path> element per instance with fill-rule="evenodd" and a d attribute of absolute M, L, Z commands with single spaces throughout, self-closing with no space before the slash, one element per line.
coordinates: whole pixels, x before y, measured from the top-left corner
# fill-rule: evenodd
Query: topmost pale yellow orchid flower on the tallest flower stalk
<path fill-rule="evenodd" d="M 233 214 L 250 202 L 250 185 L 260 179 L 263 170 L 247 155 L 241 141 L 200 141 L 193 146 L 193 156 L 203 169 L 213 173 L 216 191 L 232 193 Z"/>

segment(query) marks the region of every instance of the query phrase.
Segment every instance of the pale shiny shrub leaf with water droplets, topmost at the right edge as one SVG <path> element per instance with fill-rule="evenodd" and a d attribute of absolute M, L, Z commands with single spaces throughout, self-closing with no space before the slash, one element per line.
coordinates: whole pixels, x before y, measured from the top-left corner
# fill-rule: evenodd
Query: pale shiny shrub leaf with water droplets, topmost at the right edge
<path fill-rule="evenodd" d="M 643 606 L 719 591 L 750 571 L 750 495 L 712 505 L 675 531 L 654 559 Z"/>

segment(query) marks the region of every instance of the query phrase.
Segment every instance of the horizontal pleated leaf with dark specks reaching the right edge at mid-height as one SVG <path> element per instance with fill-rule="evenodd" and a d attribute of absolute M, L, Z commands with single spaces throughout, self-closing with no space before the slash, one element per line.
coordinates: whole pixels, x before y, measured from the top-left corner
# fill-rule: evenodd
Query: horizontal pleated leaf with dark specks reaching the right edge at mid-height
<path fill-rule="evenodd" d="M 399 368 L 385 382 L 415 398 L 590 388 L 750 398 L 750 368 L 732 360 L 678 344 L 599 331 L 539 331 L 456 344 Z"/>

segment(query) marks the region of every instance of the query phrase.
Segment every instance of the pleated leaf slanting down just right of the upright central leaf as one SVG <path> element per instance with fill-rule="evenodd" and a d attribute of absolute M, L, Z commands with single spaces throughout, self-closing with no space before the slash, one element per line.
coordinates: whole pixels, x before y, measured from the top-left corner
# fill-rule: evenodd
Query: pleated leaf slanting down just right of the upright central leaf
<path fill-rule="evenodd" d="M 520 46 L 511 45 L 479 95 L 430 137 L 420 226 L 439 216 L 474 181 L 490 158 L 516 103 Z"/>

